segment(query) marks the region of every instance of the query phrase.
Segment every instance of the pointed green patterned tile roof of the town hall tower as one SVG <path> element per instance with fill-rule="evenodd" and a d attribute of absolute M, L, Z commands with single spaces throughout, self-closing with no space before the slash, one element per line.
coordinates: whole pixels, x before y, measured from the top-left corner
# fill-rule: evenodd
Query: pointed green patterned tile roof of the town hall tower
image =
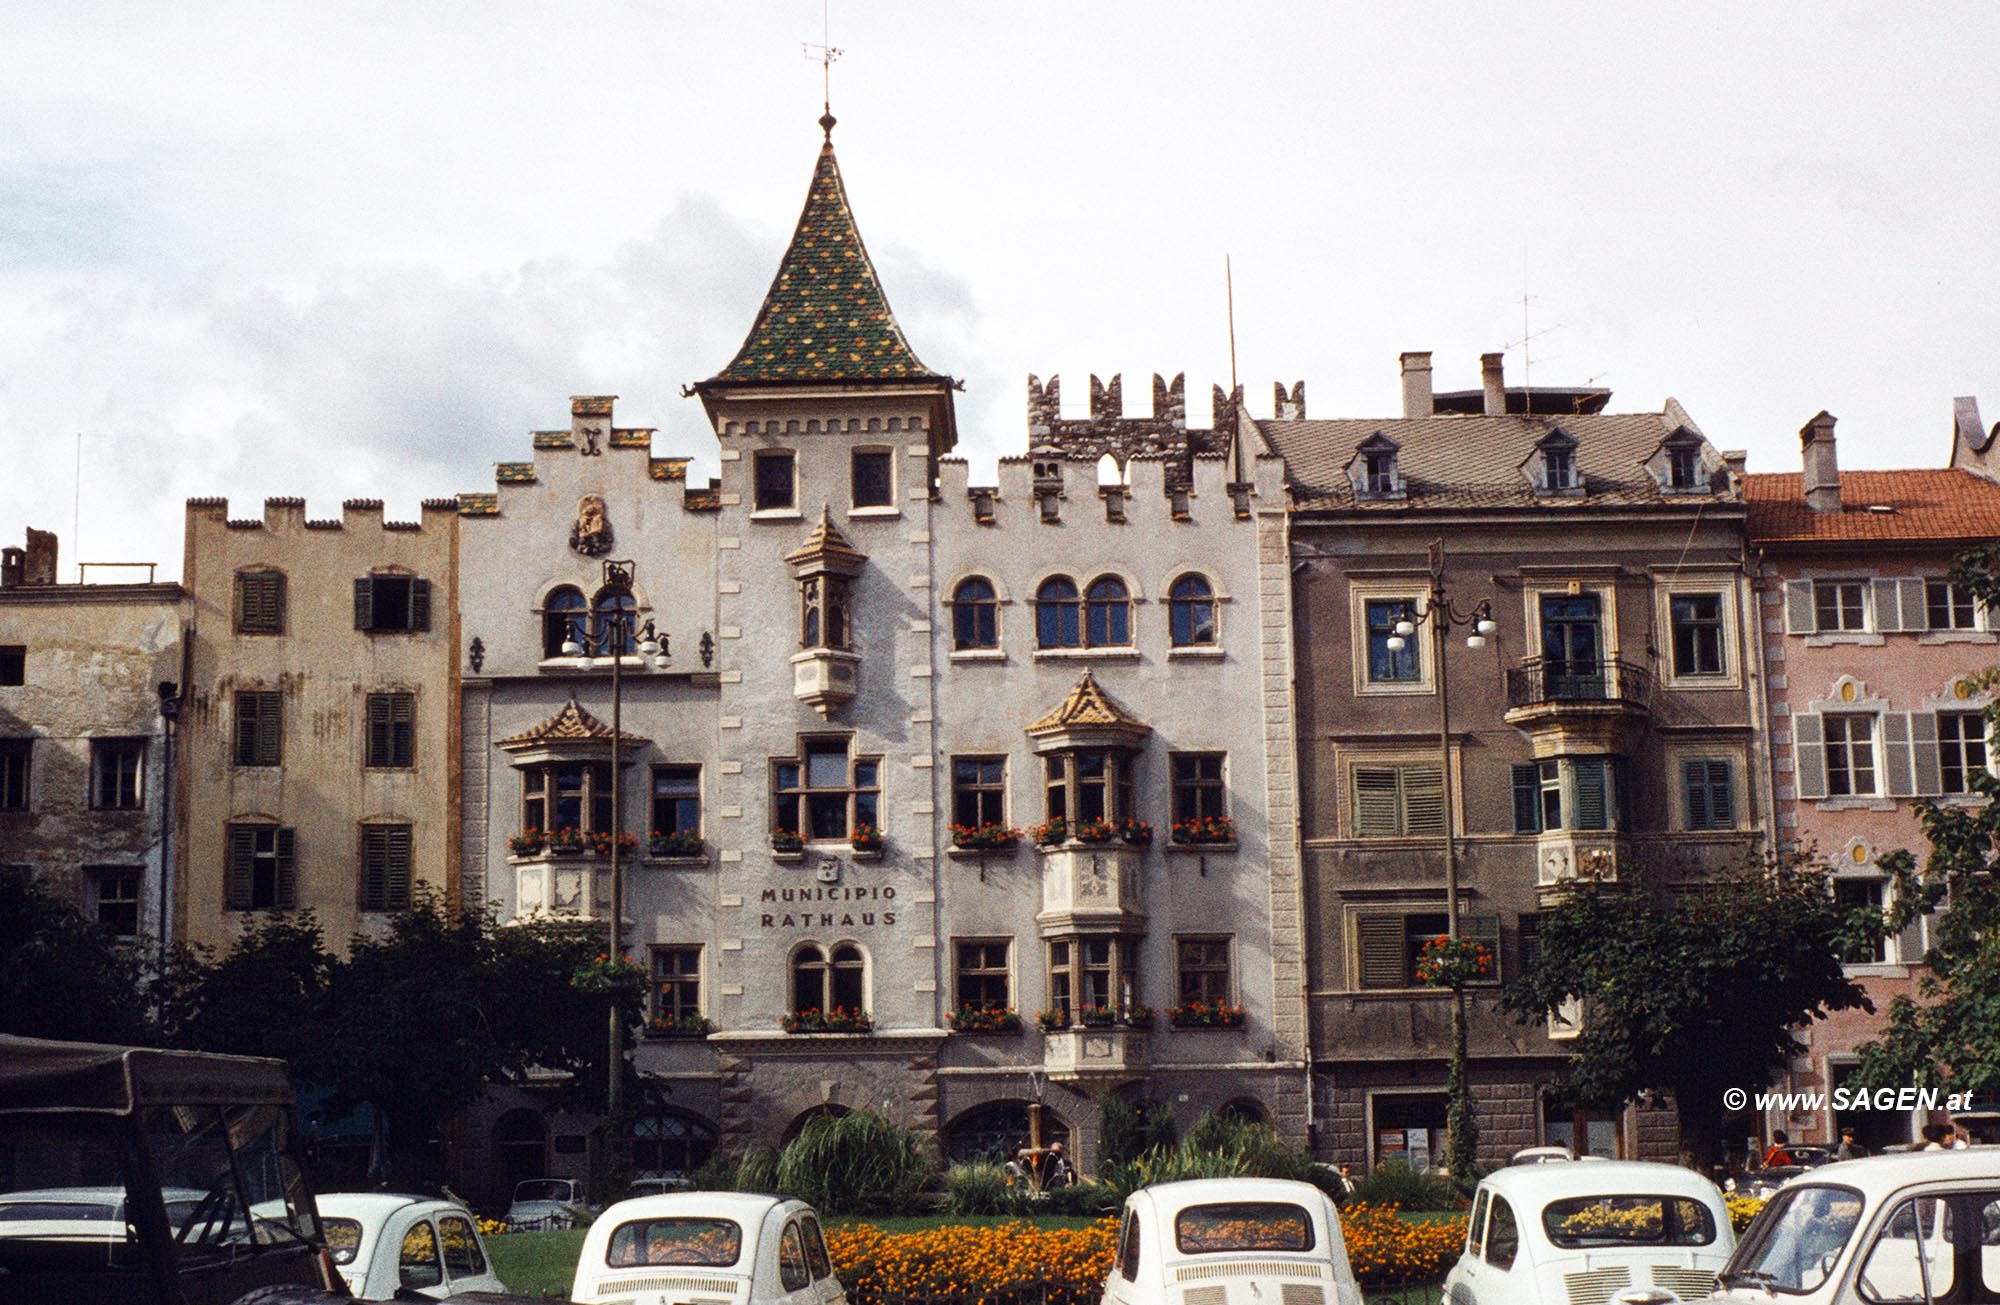
<path fill-rule="evenodd" d="M 704 384 L 934 378 L 888 308 L 828 140 L 750 336 Z"/>

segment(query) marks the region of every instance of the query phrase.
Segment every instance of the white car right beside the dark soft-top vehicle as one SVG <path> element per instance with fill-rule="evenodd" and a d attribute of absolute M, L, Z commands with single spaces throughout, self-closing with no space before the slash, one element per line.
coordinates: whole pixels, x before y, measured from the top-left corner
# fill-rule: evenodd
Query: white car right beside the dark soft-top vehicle
<path fill-rule="evenodd" d="M 356 1299 L 448 1301 L 466 1291 L 506 1291 L 488 1267 L 478 1219 L 456 1201 L 330 1193 L 320 1197 L 320 1227 Z"/>

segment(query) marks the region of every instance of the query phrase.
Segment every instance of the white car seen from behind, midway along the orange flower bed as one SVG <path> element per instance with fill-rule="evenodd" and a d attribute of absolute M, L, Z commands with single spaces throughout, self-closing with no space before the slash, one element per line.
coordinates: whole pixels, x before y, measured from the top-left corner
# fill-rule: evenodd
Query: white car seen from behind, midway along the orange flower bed
<path fill-rule="evenodd" d="M 1190 1179 L 1126 1197 L 1104 1305 L 1362 1305 L 1312 1183 Z"/>

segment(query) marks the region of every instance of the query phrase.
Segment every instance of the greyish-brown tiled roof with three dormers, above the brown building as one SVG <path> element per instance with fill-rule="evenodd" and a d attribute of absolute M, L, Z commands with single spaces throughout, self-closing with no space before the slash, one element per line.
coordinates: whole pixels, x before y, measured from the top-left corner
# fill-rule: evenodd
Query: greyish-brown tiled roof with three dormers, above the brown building
<path fill-rule="evenodd" d="M 1400 512 L 1412 506 L 1522 506 L 1588 510 L 1700 500 L 1708 494 L 1662 494 L 1644 462 L 1674 430 L 1694 424 L 1668 402 L 1664 412 L 1562 416 L 1394 416 L 1386 420 L 1258 420 L 1256 428 L 1284 458 L 1292 500 L 1300 508 Z M 1536 494 L 1522 462 L 1550 432 L 1576 438 L 1576 470 L 1584 494 Z M 1404 498 L 1356 498 L 1346 466 L 1372 434 L 1396 440 Z"/>

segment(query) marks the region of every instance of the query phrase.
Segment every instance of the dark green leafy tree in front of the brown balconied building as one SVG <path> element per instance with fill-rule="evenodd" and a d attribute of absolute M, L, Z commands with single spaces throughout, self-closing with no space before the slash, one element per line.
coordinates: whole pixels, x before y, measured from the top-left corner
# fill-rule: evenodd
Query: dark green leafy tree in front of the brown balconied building
<path fill-rule="evenodd" d="M 1540 959 L 1502 1009 L 1546 1023 L 1582 1001 L 1576 1097 L 1616 1109 L 1670 1091 L 1684 1145 L 1714 1163 L 1726 1089 L 1766 1087 L 1802 1051 L 1796 1031 L 1808 1021 L 1872 1009 L 1840 969 L 1870 927 L 1880 919 L 1834 905 L 1824 867 L 1790 855 L 1672 887 L 1584 883 L 1542 917 Z"/>

